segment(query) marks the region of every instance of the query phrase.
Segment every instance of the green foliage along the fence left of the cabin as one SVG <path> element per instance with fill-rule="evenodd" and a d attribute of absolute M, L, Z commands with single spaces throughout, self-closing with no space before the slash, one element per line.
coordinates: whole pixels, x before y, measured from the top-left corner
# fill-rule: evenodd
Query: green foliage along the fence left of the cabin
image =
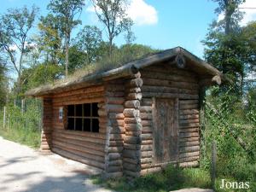
<path fill-rule="evenodd" d="M 14 142 L 38 148 L 41 135 L 41 102 L 26 100 L 26 111 L 9 103 L 7 106 L 6 126 L 3 127 L 3 111 L 0 111 L 0 135 Z"/>

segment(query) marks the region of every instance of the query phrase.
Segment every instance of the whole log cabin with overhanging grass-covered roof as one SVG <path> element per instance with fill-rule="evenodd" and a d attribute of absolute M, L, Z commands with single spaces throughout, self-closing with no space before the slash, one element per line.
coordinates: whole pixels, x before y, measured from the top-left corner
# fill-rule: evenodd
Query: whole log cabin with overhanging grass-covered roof
<path fill-rule="evenodd" d="M 41 150 L 139 177 L 198 166 L 200 96 L 224 75 L 181 47 L 26 92 L 43 100 Z"/>

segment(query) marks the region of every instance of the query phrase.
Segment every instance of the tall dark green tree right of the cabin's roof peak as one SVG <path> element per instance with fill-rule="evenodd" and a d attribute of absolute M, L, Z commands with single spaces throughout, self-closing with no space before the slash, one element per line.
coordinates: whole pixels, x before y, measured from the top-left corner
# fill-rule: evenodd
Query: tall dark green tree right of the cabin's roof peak
<path fill-rule="evenodd" d="M 218 2 L 216 13 L 224 13 L 224 20 L 213 21 L 202 41 L 206 45 L 205 59 L 236 83 L 236 94 L 242 94 L 245 68 L 245 46 L 241 38 L 242 18 L 237 9 L 243 0 L 213 0 Z"/>

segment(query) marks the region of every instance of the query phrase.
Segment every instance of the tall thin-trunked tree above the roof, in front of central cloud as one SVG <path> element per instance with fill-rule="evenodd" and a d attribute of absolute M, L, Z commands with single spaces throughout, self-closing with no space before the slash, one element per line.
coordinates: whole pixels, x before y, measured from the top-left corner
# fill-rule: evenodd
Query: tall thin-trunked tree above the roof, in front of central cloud
<path fill-rule="evenodd" d="M 127 0 L 92 0 L 96 15 L 103 25 L 107 27 L 109 49 L 108 55 L 112 56 L 113 38 L 125 32 L 133 24 L 126 14 Z"/>

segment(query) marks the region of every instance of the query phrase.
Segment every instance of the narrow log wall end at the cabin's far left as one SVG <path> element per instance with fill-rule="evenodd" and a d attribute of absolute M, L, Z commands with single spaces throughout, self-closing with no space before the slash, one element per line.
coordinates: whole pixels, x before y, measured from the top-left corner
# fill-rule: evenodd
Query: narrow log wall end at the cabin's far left
<path fill-rule="evenodd" d="M 43 129 L 41 133 L 41 146 L 42 152 L 49 152 L 51 148 L 51 134 L 52 134 L 52 100 L 51 98 L 44 98 L 43 100 Z"/>

